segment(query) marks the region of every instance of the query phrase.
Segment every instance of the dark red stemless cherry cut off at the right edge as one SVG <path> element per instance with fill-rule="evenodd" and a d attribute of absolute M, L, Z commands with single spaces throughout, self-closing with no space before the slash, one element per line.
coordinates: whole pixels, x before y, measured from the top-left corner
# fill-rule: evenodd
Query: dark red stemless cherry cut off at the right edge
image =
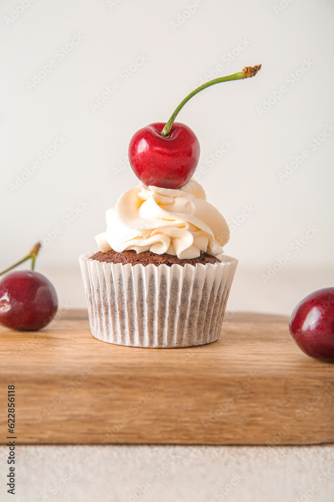
<path fill-rule="evenodd" d="M 315 291 L 298 303 L 289 330 L 305 354 L 334 362 L 334 288 Z"/>

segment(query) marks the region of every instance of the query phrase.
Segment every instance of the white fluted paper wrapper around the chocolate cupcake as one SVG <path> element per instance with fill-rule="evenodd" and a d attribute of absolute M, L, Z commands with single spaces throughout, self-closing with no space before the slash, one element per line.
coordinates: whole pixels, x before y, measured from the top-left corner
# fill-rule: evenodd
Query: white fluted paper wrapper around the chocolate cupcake
<path fill-rule="evenodd" d="M 188 347 L 219 338 L 237 260 L 122 265 L 79 258 L 91 331 L 132 347 Z"/>

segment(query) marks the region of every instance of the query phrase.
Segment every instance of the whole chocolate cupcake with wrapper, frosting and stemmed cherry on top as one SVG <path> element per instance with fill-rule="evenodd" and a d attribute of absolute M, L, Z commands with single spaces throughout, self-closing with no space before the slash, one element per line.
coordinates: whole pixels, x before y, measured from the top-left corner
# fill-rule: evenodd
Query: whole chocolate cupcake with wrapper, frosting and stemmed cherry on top
<path fill-rule="evenodd" d="M 192 179 L 200 146 L 174 122 L 205 87 L 256 75 L 261 65 L 201 85 L 167 123 L 137 131 L 129 161 L 141 185 L 107 210 L 99 252 L 82 255 L 93 336 L 132 347 L 189 347 L 219 338 L 237 260 L 223 254 L 229 228 Z"/>

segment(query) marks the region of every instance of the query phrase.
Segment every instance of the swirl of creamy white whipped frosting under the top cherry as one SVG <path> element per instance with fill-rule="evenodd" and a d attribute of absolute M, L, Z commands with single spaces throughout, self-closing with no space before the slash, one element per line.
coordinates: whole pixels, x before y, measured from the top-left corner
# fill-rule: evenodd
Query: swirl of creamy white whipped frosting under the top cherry
<path fill-rule="evenodd" d="M 182 188 L 139 185 L 124 192 L 106 212 L 107 231 L 96 235 L 100 250 L 121 253 L 168 253 L 191 259 L 217 256 L 229 239 L 220 212 L 206 201 L 202 186 L 191 179 Z"/>

